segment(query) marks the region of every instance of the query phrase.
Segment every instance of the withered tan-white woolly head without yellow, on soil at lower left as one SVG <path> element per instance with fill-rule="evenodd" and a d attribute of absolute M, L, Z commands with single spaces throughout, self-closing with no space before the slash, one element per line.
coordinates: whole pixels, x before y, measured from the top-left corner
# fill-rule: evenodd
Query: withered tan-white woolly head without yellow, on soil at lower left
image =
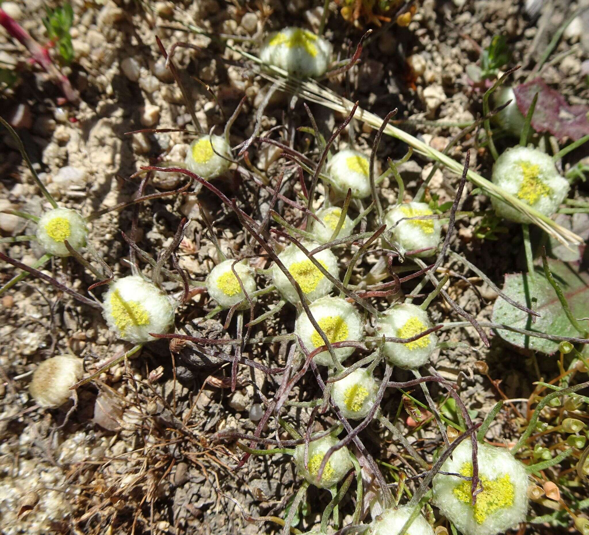
<path fill-rule="evenodd" d="M 54 356 L 37 366 L 29 392 L 39 407 L 56 408 L 70 399 L 70 387 L 80 381 L 82 375 L 82 359 L 72 355 Z"/>

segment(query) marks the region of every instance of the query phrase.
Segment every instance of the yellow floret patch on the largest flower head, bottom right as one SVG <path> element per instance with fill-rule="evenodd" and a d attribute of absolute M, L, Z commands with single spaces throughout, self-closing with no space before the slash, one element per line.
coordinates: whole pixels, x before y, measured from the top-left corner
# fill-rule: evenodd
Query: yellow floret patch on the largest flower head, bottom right
<path fill-rule="evenodd" d="M 472 477 L 472 464 L 464 463 L 461 475 Z M 474 517 L 478 524 L 482 524 L 489 514 L 499 509 L 511 507 L 514 503 L 514 486 L 509 474 L 495 479 L 481 477 L 483 490 L 477 494 L 477 504 L 474 506 Z M 462 481 L 454 488 L 454 496 L 469 505 L 472 503 L 471 482 Z"/>

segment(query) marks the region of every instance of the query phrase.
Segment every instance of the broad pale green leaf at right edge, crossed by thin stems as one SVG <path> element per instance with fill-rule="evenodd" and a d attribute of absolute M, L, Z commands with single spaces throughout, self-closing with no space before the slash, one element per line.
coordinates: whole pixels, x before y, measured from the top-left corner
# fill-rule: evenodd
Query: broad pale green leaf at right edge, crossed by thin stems
<path fill-rule="evenodd" d="M 579 272 L 573 265 L 567 265 L 560 260 L 548 260 L 548 265 L 554 279 L 562 289 L 568 305 L 576 318 L 581 318 L 587 312 L 589 299 L 589 273 L 587 270 Z M 493 306 L 492 321 L 503 323 L 528 331 L 535 331 L 556 336 L 578 336 L 562 306 L 552 289 L 544 272 L 537 269 L 534 282 L 528 273 L 512 273 L 505 276 L 503 291 L 519 303 L 525 303 L 534 311 L 540 313 L 532 323 L 530 315 L 509 305 L 503 299 L 497 299 Z M 545 354 L 558 351 L 558 343 L 544 338 L 536 338 L 512 331 L 499 329 L 498 335 L 502 339 L 520 348 L 535 349 Z"/>

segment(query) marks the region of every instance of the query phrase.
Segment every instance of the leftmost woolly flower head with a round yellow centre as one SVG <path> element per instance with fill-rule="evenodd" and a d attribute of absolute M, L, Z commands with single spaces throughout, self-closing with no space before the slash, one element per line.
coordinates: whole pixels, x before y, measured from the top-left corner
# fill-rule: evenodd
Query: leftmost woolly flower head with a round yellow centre
<path fill-rule="evenodd" d="M 37 240 L 55 256 L 70 256 L 65 240 L 72 249 L 79 250 L 86 245 L 88 227 L 84 218 L 75 210 L 55 208 L 45 212 L 37 223 Z"/>

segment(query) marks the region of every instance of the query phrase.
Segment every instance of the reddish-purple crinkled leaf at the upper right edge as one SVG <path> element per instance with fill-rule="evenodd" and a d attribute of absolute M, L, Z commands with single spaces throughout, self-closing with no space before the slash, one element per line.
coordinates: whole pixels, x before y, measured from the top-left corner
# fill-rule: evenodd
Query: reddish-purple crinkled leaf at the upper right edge
<path fill-rule="evenodd" d="M 525 116 L 534 95 L 538 102 L 532 117 L 532 127 L 537 132 L 550 132 L 559 140 L 577 141 L 589 134 L 589 106 L 571 106 L 558 91 L 548 87 L 542 78 L 514 87 L 519 111 Z"/>

